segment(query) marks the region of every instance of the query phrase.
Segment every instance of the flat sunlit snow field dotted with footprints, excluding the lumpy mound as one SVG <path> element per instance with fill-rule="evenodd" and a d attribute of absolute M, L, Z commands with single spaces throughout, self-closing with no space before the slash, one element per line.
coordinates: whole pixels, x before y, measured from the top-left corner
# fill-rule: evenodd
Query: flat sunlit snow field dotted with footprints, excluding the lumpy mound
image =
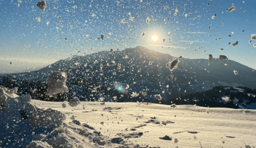
<path fill-rule="evenodd" d="M 74 116 L 75 120 L 82 124 L 87 123 L 102 135 L 109 136 L 110 139 L 120 137 L 129 145 L 133 143 L 141 147 L 149 145 L 161 148 L 200 148 L 200 141 L 203 148 L 256 146 L 255 110 L 199 106 L 171 108 L 151 103 L 105 103 L 102 106 L 99 102 L 81 102 L 76 107 L 63 108 L 59 102 L 32 100 L 31 103 L 40 108 L 63 112 L 67 116 L 64 122 L 67 123 L 72 122 L 70 118 Z M 159 121 L 160 124 L 154 124 L 150 120 Z M 147 123 L 148 121 L 150 122 Z M 139 138 L 125 139 L 122 136 L 140 132 L 143 135 Z M 165 135 L 172 137 L 172 140 L 159 139 Z M 175 143 L 174 139 L 178 142 Z"/>

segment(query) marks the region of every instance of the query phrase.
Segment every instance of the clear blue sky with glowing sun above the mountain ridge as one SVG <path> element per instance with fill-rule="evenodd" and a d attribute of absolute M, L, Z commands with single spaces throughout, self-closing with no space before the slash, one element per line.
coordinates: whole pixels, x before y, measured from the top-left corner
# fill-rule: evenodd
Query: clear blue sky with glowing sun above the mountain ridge
<path fill-rule="evenodd" d="M 191 59 L 226 55 L 256 69 L 256 40 L 249 43 L 256 34 L 255 0 L 46 0 L 45 10 L 37 2 L 0 0 L 0 60 L 40 66 L 140 45 Z M 232 3 L 235 10 L 226 12 Z"/>

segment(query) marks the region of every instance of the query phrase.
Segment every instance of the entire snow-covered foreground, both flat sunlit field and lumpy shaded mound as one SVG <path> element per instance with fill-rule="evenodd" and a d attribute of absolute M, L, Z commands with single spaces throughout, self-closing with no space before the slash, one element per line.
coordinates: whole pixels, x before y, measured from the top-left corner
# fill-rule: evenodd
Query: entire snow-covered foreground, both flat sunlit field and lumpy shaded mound
<path fill-rule="evenodd" d="M 64 108 L 16 91 L 0 87 L 2 148 L 256 146 L 255 110 L 99 102 Z"/>

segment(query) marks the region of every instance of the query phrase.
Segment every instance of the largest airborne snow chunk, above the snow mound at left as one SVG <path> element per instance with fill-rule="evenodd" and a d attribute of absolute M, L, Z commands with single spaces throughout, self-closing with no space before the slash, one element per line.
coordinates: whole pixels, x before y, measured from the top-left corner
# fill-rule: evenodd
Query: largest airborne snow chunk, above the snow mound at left
<path fill-rule="evenodd" d="M 56 94 L 67 93 L 68 88 L 66 86 L 66 81 L 67 74 L 65 72 L 52 72 L 46 80 L 48 85 L 48 91 L 46 91 L 46 95 L 56 98 Z"/>

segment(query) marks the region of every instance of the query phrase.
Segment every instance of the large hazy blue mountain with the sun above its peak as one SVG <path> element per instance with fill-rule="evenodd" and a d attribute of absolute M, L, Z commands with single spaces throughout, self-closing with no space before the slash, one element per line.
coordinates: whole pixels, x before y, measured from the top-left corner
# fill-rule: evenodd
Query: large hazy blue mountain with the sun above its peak
<path fill-rule="evenodd" d="M 75 55 L 71 60 L 59 60 L 33 72 L 4 76 L 45 84 L 51 72 L 66 72 L 70 92 L 75 92 L 70 95 L 85 100 L 104 97 L 122 102 L 151 100 L 158 103 L 154 97 L 157 94 L 163 102 L 166 98 L 176 100 L 181 94 L 207 91 L 216 85 L 256 88 L 256 72 L 233 60 L 220 62 L 213 58 L 208 65 L 208 59 L 179 58 L 177 69 L 171 71 L 166 64 L 174 59 L 176 57 L 170 54 L 137 46 L 122 51 Z M 170 75 L 174 76 L 171 81 L 167 78 Z"/>

